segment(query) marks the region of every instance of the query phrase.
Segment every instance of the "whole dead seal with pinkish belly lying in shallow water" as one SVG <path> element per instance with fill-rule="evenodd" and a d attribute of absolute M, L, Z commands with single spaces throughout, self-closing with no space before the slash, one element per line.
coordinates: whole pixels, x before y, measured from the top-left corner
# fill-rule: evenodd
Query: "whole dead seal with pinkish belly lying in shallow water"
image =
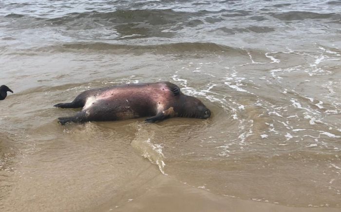
<path fill-rule="evenodd" d="M 210 110 L 197 98 L 184 95 L 170 82 L 138 83 L 95 88 L 79 94 L 59 108 L 82 108 L 75 116 L 59 117 L 59 123 L 117 121 L 146 117 L 155 122 L 170 117 L 208 118 Z"/>

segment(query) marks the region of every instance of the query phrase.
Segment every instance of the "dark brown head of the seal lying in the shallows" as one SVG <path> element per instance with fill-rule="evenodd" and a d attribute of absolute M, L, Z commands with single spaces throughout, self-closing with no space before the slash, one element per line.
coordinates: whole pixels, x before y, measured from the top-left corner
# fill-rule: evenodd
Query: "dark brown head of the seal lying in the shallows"
<path fill-rule="evenodd" d="M 181 95 L 180 105 L 181 110 L 178 113 L 180 117 L 206 119 L 211 116 L 211 111 L 195 97 Z"/>

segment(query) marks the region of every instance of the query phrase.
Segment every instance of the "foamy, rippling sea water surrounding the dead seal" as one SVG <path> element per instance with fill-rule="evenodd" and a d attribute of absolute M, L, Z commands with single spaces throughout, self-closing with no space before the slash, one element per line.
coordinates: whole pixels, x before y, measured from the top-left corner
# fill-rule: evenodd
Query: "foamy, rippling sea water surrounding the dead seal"
<path fill-rule="evenodd" d="M 325 0 L 0 2 L 0 84 L 15 92 L 0 102 L 0 208 L 119 208 L 160 176 L 340 207 L 340 11 Z M 211 118 L 57 124 L 76 110 L 52 106 L 84 90 L 159 81 Z"/>

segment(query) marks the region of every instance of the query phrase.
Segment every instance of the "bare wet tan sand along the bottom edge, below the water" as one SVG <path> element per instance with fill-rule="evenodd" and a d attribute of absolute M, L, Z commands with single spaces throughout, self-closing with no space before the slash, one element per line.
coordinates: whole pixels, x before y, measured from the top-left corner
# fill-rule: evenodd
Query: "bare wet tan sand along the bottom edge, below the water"
<path fill-rule="evenodd" d="M 339 208 L 287 207 L 214 195 L 167 176 L 156 176 L 153 179 L 154 183 L 156 185 L 145 185 L 147 191 L 133 199 L 125 199 L 125 202 L 112 200 L 96 210 L 103 212 L 340 212 Z"/>

